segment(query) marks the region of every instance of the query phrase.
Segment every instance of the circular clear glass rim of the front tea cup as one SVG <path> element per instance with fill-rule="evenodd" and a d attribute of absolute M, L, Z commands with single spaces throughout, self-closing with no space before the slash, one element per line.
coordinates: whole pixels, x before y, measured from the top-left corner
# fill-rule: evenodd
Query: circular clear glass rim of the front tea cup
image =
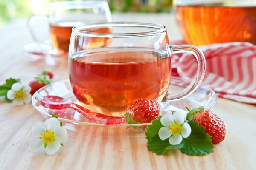
<path fill-rule="evenodd" d="M 91 31 L 81 31 L 81 29 L 86 28 L 97 28 L 97 27 L 112 27 L 112 26 L 134 26 L 134 27 L 147 27 L 147 28 L 157 28 L 155 31 L 145 31 L 145 32 L 133 32 L 133 33 L 99 33 Z M 87 37 L 145 37 L 157 35 L 163 32 L 166 32 L 166 27 L 161 24 L 155 23 L 138 23 L 138 22 L 98 22 L 98 23 L 87 23 L 82 26 L 74 26 L 72 32 L 87 36 Z"/>

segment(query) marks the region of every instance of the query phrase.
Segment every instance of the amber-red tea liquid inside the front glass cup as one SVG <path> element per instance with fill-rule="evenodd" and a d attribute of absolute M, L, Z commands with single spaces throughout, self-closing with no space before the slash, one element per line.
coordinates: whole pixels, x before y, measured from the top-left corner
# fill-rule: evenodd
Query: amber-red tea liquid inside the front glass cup
<path fill-rule="evenodd" d="M 161 102 L 169 86 L 171 60 L 157 51 L 115 48 L 73 57 L 73 93 L 92 111 L 117 116 L 140 98 Z"/>

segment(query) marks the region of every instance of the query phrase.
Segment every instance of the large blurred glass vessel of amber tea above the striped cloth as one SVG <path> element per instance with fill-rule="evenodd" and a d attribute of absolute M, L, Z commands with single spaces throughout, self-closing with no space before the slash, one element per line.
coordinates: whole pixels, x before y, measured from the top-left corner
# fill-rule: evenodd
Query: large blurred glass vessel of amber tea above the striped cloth
<path fill-rule="evenodd" d="M 174 0 L 184 40 L 193 45 L 256 45 L 256 0 Z"/>

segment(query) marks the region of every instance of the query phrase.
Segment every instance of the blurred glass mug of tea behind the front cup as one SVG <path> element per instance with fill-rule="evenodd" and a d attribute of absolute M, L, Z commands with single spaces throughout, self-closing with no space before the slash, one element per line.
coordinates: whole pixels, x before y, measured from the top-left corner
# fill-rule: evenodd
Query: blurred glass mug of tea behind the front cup
<path fill-rule="evenodd" d="M 60 1 L 50 3 L 48 15 L 34 15 L 29 18 L 28 30 L 32 40 L 53 54 L 67 54 L 72 27 L 90 22 L 111 22 L 111 13 L 106 1 Z M 50 44 L 40 39 L 33 30 L 37 19 L 47 18 L 50 28 Z M 99 30 L 98 30 L 99 31 Z M 101 30 L 109 31 L 109 30 Z M 49 33 L 48 33 L 49 34 Z"/>

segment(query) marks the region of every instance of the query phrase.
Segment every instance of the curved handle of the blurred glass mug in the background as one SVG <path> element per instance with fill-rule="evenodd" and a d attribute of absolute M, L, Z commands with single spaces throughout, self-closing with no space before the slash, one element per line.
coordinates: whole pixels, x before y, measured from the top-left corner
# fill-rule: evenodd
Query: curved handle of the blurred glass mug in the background
<path fill-rule="evenodd" d="M 35 32 L 32 30 L 32 23 L 33 20 L 39 17 L 46 17 L 48 22 L 49 22 L 49 16 L 48 15 L 32 15 L 29 17 L 29 20 L 27 22 L 27 29 L 29 33 L 29 37 L 36 42 L 41 48 L 46 49 L 46 50 L 52 50 L 52 45 L 46 44 L 43 40 L 40 40 L 36 35 Z"/>

